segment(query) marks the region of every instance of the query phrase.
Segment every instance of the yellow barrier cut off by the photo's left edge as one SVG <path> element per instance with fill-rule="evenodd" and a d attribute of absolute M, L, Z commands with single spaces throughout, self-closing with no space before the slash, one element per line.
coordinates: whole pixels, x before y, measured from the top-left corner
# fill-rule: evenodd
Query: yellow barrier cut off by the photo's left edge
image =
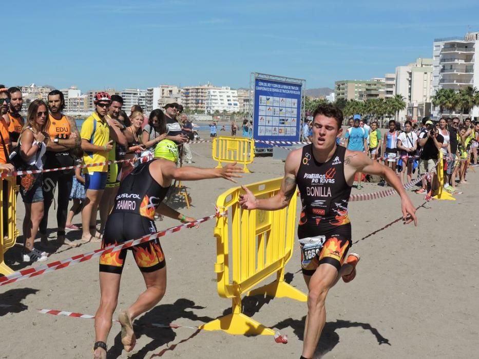
<path fill-rule="evenodd" d="M 11 274 L 13 270 L 5 264 L 5 252 L 13 247 L 19 232 L 16 229 L 16 177 L 0 179 L 0 274 Z"/>

